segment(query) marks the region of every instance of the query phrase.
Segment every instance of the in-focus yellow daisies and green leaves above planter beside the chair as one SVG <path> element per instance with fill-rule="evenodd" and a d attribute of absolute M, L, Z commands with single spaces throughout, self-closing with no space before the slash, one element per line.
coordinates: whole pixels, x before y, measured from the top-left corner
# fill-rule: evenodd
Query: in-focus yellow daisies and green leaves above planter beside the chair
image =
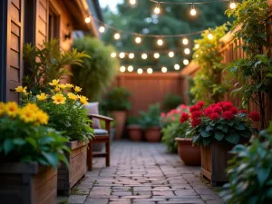
<path fill-rule="evenodd" d="M 27 92 L 27 87 L 18 87 L 16 92 L 23 94 L 23 102 L 34 102 L 50 116 L 48 126 L 57 131 L 63 131 L 69 141 L 87 141 L 92 139 L 92 121 L 88 118 L 84 104 L 88 99 L 79 95 L 82 88 L 71 83 L 60 83 L 53 80 L 48 83 L 49 92 L 34 94 Z"/>

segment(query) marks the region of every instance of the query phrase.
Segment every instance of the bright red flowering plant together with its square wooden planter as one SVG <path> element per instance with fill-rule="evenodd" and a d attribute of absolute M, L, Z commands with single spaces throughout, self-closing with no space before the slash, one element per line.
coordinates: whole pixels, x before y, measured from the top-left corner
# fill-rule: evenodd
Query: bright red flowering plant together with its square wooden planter
<path fill-rule="evenodd" d="M 200 145 L 201 174 L 208 178 L 212 185 L 228 181 L 225 170 L 227 161 L 232 158 L 228 153 L 234 145 L 247 142 L 253 132 L 252 121 L 259 121 L 257 112 L 240 110 L 231 102 L 218 102 L 204 109 L 204 102 L 189 108 L 182 113 L 180 121 L 190 120 L 190 131 L 187 137 L 194 144 Z"/>

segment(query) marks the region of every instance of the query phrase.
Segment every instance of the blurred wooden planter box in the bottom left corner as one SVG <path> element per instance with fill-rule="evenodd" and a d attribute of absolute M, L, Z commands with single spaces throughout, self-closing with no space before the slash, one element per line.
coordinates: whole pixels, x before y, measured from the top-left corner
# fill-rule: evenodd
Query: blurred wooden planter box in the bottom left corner
<path fill-rule="evenodd" d="M 57 172 L 33 163 L 0 164 L 0 204 L 56 204 Z"/>

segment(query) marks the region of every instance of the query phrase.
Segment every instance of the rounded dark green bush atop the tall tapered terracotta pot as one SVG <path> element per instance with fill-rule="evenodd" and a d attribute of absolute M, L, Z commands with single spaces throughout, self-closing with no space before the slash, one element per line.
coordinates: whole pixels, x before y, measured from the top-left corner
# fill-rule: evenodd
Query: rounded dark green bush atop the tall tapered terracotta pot
<path fill-rule="evenodd" d="M 116 87 L 112 89 L 102 101 L 102 109 L 108 112 L 128 111 L 131 109 L 131 102 L 129 102 L 130 96 L 131 92 L 126 88 Z"/>

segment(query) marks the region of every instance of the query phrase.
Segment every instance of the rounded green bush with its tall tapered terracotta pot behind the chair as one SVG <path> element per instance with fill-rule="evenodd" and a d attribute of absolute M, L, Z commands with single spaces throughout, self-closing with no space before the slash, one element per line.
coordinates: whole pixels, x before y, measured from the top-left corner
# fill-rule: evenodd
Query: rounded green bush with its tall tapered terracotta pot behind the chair
<path fill-rule="evenodd" d="M 131 92 L 125 88 L 117 87 L 112 89 L 102 102 L 103 110 L 110 112 L 114 121 L 116 121 L 115 140 L 121 139 L 127 111 L 131 109 L 131 102 L 129 102 L 130 95 Z"/>

